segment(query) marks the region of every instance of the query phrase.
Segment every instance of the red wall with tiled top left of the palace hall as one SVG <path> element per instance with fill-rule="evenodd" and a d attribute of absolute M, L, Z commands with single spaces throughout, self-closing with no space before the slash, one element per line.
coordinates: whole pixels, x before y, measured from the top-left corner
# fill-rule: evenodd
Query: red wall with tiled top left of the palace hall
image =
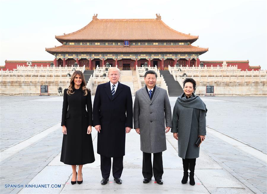
<path fill-rule="evenodd" d="M 35 65 L 37 67 L 41 67 L 43 65 L 43 67 L 47 67 L 50 66 L 50 63 L 54 62 L 54 61 L 32 61 L 31 66 L 34 67 Z M 13 70 L 17 68 L 17 65 L 20 66 L 28 66 L 27 65 L 27 61 L 5 61 L 5 66 L 4 67 L 0 67 L 0 70 L 2 69 L 3 71 L 8 70 Z"/>

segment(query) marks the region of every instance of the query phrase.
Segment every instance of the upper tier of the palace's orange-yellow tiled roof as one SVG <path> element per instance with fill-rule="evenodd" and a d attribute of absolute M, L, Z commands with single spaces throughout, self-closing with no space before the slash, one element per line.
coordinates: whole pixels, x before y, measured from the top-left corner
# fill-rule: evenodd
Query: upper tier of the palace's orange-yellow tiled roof
<path fill-rule="evenodd" d="M 158 17 L 158 16 L 157 16 Z M 161 19 L 97 19 L 73 33 L 55 36 L 64 41 L 98 40 L 175 40 L 194 42 L 198 36 L 178 32 Z"/>

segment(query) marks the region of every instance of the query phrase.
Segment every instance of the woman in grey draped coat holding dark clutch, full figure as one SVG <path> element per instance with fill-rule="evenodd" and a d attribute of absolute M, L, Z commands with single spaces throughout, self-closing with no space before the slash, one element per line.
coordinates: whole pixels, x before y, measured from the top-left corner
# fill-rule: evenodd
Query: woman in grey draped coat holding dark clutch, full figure
<path fill-rule="evenodd" d="M 183 82 L 184 92 L 176 100 L 172 115 L 171 132 L 178 140 L 178 155 L 183 160 L 184 176 L 182 184 L 187 183 L 190 170 L 190 185 L 195 185 L 194 171 L 196 158 L 199 157 L 199 146 L 196 141 L 200 137 L 204 141 L 206 135 L 206 105 L 196 96 L 196 81 L 186 78 Z"/>

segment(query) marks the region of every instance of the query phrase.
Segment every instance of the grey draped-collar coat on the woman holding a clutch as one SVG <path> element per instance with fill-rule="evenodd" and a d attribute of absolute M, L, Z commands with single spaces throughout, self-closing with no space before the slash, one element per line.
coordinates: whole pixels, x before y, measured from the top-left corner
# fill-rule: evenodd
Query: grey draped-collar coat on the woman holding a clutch
<path fill-rule="evenodd" d="M 185 93 L 176 100 L 172 115 L 172 133 L 178 133 L 180 158 L 198 158 L 198 135 L 206 135 L 206 105 L 198 96 L 186 99 Z"/>

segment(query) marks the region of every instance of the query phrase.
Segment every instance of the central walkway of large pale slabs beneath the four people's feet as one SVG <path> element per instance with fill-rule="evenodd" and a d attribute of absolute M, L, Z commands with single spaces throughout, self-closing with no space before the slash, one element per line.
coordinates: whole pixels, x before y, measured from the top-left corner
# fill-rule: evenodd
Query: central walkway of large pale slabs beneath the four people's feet
<path fill-rule="evenodd" d="M 94 139 L 93 144 L 96 145 L 97 138 L 94 138 L 97 132 L 92 133 Z M 168 138 L 171 137 L 170 135 Z M 172 137 L 173 138 L 173 137 Z M 173 138 L 174 139 L 174 138 Z M 171 141 L 171 140 L 170 140 Z M 199 158 L 196 167 L 195 186 L 182 184 L 183 176 L 182 159 L 178 157 L 177 142 L 172 140 L 172 143 L 167 141 L 167 151 L 163 152 L 163 185 L 155 183 L 154 178 L 149 184 L 142 183 L 142 152 L 140 151 L 139 135 L 132 130 L 126 134 L 124 169 L 121 179 L 122 185 L 117 185 L 111 176 L 107 185 L 101 185 L 100 181 L 100 155 L 95 152 L 96 161 L 91 164 L 86 164 L 83 167 L 83 183 L 81 185 L 71 185 L 71 166 L 64 165 L 59 161 L 60 154 L 58 154 L 36 177 L 34 177 L 29 184 L 62 184 L 60 193 L 210 193 L 206 185 L 210 186 L 212 190 L 214 187 L 224 188 L 229 191 L 237 188 L 242 189 L 246 193 L 252 193 L 246 186 L 239 182 L 235 177 L 222 169 L 209 156 L 201 152 L 202 159 Z M 96 151 L 96 147 L 94 147 Z M 203 165 L 207 162 L 209 165 Z M 62 170 L 60 170 L 62 168 Z M 206 168 L 206 169 L 205 169 Z M 209 169 L 213 168 L 213 169 Z M 53 175 L 52 171 L 56 169 L 57 172 L 65 171 L 64 176 L 58 176 L 58 173 Z M 48 172 L 51 172 L 48 173 Z M 212 174 L 210 176 L 209 174 Z M 209 175 L 209 176 L 207 176 Z M 42 177 L 45 177 L 42 179 Z M 48 176 L 48 177 L 47 177 Z M 49 178 L 50 176 L 50 178 Z M 47 182 L 46 180 L 53 181 Z M 214 183 L 214 181 L 217 181 Z M 57 193 L 59 189 L 45 190 L 47 193 Z M 39 189 L 23 188 L 20 193 L 38 193 Z"/>

